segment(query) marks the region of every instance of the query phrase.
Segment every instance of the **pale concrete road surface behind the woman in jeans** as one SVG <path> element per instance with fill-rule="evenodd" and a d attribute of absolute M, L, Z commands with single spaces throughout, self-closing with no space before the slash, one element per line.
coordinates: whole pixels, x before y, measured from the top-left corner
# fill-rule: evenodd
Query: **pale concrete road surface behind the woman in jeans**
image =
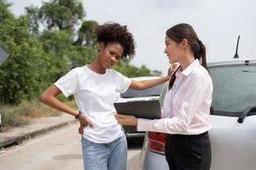
<path fill-rule="evenodd" d="M 4 170 L 83 170 L 78 125 L 58 129 L 0 154 Z M 137 170 L 140 143 L 128 144 L 128 170 Z"/>

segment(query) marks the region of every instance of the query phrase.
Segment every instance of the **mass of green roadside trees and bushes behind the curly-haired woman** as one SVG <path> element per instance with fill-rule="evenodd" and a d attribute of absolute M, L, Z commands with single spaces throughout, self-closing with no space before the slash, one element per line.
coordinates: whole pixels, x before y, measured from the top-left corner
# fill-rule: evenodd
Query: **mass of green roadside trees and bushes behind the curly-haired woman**
<path fill-rule="evenodd" d="M 10 3 L 0 0 L 0 47 L 9 53 L 0 65 L 0 104 L 37 99 L 71 68 L 96 59 L 98 24 L 83 20 L 81 1 L 51 0 L 41 8 L 27 7 L 19 18 L 9 7 Z M 76 32 L 74 26 L 79 22 L 82 25 Z M 47 29 L 40 31 L 42 23 Z M 150 71 L 145 65 L 137 68 L 129 61 L 121 61 L 114 69 L 127 77 L 160 75 L 160 71 Z"/>

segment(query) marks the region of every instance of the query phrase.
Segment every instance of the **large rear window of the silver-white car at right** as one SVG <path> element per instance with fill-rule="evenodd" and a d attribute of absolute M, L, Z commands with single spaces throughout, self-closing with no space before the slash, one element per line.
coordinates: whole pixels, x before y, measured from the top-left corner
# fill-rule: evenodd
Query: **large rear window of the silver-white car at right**
<path fill-rule="evenodd" d="M 239 116 L 256 106 L 256 64 L 209 67 L 213 82 L 212 114 Z"/>

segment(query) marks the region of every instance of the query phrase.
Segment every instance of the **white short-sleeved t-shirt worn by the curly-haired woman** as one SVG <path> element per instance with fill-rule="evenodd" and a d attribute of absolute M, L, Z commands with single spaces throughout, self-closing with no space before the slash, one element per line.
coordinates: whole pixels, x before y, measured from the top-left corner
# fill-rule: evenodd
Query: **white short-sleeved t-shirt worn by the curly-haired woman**
<path fill-rule="evenodd" d="M 105 74 L 91 71 L 87 65 L 69 71 L 54 83 L 61 92 L 74 99 L 93 124 L 93 128 L 84 128 L 83 137 L 95 143 L 107 144 L 124 134 L 113 116 L 113 103 L 117 93 L 124 93 L 131 84 L 131 79 L 118 71 L 107 69 Z"/>

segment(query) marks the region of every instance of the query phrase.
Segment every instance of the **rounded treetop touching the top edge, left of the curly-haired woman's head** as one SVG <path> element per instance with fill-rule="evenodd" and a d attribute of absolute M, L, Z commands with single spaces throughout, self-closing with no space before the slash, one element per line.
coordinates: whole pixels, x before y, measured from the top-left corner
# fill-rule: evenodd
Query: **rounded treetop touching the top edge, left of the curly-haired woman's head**
<path fill-rule="evenodd" d="M 48 29 L 73 30 L 84 18 L 83 4 L 79 0 L 51 0 L 43 3 L 39 18 Z"/>

